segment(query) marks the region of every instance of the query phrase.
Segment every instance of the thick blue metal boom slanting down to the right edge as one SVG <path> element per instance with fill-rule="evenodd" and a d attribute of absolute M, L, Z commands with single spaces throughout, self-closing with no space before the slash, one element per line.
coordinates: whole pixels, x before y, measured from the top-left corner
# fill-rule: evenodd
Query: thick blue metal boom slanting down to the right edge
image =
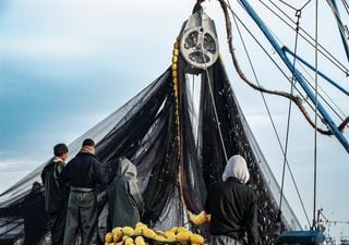
<path fill-rule="evenodd" d="M 316 105 L 316 98 L 312 89 L 308 86 L 305 81 L 303 79 L 300 72 L 293 68 L 292 62 L 288 59 L 286 53 L 282 51 L 280 45 L 277 42 L 277 40 L 273 37 L 269 29 L 266 27 L 262 19 L 257 15 L 257 13 L 254 11 L 254 9 L 250 5 L 250 3 L 246 0 L 240 0 L 240 2 L 243 4 L 246 12 L 250 14 L 250 16 L 253 19 L 253 21 L 258 25 L 265 37 L 268 39 L 268 41 L 272 44 L 276 52 L 279 54 L 284 63 L 287 65 L 287 68 L 293 72 L 294 78 L 298 81 L 298 83 L 301 85 L 303 90 L 306 93 L 309 98 L 313 101 L 314 105 Z M 325 122 L 329 126 L 333 134 L 337 137 L 339 143 L 345 147 L 345 149 L 349 152 L 349 143 L 345 138 L 345 136 L 341 134 L 341 132 L 338 130 L 335 122 L 332 120 L 330 115 L 327 113 L 325 108 L 321 105 L 321 102 L 317 101 L 317 110 L 324 118 Z"/>

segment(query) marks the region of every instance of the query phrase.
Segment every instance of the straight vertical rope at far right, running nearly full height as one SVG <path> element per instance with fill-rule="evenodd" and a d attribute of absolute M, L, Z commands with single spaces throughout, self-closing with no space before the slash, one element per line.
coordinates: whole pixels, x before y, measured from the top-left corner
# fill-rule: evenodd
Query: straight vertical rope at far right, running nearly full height
<path fill-rule="evenodd" d="M 318 78 L 318 0 L 315 1 L 315 125 L 317 125 L 317 78 Z M 313 204 L 313 229 L 316 225 L 316 196 L 317 196 L 317 132 L 314 131 L 314 204 Z"/>

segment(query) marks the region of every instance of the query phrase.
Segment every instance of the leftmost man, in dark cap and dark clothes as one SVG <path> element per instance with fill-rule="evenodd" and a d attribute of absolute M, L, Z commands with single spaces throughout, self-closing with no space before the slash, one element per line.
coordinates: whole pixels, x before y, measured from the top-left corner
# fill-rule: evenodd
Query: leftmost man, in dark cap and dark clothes
<path fill-rule="evenodd" d="M 68 189 L 59 183 L 68 158 L 68 147 L 60 143 L 53 147 L 55 157 L 41 172 L 45 187 L 45 210 L 49 216 L 52 245 L 62 245 L 67 217 Z"/>

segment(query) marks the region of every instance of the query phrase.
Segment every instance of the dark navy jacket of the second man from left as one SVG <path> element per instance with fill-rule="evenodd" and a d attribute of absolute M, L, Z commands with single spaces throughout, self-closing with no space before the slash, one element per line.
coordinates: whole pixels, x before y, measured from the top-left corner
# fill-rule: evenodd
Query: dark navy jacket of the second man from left
<path fill-rule="evenodd" d="M 105 184 L 101 164 L 95 155 L 80 151 L 63 169 L 60 181 L 65 186 L 96 188 Z"/>

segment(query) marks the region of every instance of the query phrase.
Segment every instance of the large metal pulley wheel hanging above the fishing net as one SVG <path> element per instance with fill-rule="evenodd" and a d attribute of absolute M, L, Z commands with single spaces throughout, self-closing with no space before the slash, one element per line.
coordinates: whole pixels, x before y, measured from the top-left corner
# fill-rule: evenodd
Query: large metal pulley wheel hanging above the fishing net
<path fill-rule="evenodd" d="M 215 23 L 203 11 L 194 12 L 183 24 L 180 52 L 190 64 L 190 73 L 213 65 L 218 58 L 218 38 Z"/>

